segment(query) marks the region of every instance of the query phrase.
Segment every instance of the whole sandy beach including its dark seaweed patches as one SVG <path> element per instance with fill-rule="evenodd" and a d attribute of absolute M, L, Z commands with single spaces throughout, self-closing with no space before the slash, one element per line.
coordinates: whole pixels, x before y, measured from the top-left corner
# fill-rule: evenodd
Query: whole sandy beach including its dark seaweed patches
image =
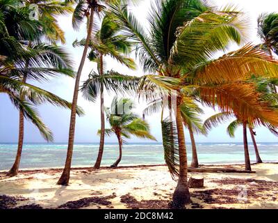
<path fill-rule="evenodd" d="M 204 188 L 190 189 L 186 208 L 278 208 L 278 164 L 252 169 L 255 174 L 190 172 L 204 177 Z M 165 166 L 76 168 L 67 187 L 56 185 L 60 172 L 26 170 L 7 178 L 2 171 L 0 208 L 169 208 L 176 186 Z"/>

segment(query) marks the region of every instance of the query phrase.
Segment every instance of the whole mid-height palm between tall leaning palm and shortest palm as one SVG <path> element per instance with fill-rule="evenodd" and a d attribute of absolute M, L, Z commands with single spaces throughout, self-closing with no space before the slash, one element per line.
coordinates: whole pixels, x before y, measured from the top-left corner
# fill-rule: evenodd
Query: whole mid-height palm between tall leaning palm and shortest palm
<path fill-rule="evenodd" d="M 75 42 L 74 45 L 84 45 L 85 40 L 81 42 Z M 136 65 L 132 59 L 126 57 L 131 51 L 131 43 L 122 35 L 120 35 L 120 27 L 113 22 L 113 18 L 106 15 L 101 22 L 99 30 L 95 34 L 95 38 L 89 43 L 91 49 L 89 53 L 90 61 L 97 62 L 99 75 L 104 75 L 104 57 L 112 56 L 118 62 L 124 64 L 128 68 L 135 69 Z M 90 83 L 91 80 L 86 82 Z M 83 91 L 88 91 L 88 86 L 83 85 Z M 92 98 L 92 97 L 90 97 Z M 89 98 L 89 99 L 90 99 Z M 95 169 L 99 169 L 101 164 L 102 155 L 104 153 L 104 129 L 105 129 L 105 118 L 104 118 L 104 84 L 101 82 L 100 85 L 100 111 L 101 111 L 101 134 L 99 142 L 99 153 L 97 161 L 95 162 Z M 95 98 L 93 98 L 95 100 Z"/>

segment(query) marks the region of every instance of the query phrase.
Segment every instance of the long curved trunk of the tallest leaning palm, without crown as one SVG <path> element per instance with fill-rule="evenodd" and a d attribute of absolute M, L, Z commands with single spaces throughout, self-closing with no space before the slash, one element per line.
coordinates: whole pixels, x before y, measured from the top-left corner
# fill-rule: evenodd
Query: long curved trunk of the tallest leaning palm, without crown
<path fill-rule="evenodd" d="M 63 170 L 63 174 L 60 176 L 60 179 L 58 180 L 58 185 L 68 185 L 70 181 L 70 167 L 72 165 L 72 152 L 74 149 L 74 132 L 75 132 L 75 122 L 76 122 L 76 106 L 77 106 L 77 100 L 79 95 L 79 82 L 81 78 L 81 73 L 83 70 L 83 66 L 85 63 L 85 59 L 88 52 L 88 47 L 90 43 L 90 38 L 92 34 L 92 24 L 94 21 L 94 10 L 91 8 L 90 10 L 90 21 L 89 21 L 89 28 L 87 33 L 87 38 L 85 42 L 85 47 L 83 50 L 83 55 L 80 61 L 79 70 L 76 74 L 76 80 L 75 80 L 75 86 L 74 86 L 74 96 L 72 99 L 72 112 L 70 116 L 70 131 L 69 131 L 69 141 L 67 146 L 67 158 L 65 161 L 65 168 Z"/>

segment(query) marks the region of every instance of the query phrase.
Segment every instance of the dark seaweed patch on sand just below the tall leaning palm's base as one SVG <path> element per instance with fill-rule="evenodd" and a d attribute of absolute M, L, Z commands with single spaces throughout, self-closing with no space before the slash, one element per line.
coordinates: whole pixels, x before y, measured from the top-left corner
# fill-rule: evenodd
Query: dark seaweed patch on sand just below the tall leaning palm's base
<path fill-rule="evenodd" d="M 58 206 L 58 209 L 79 209 L 85 208 L 90 205 L 102 205 L 111 207 L 111 201 L 109 199 L 114 199 L 116 194 L 112 194 L 111 196 L 106 197 L 85 197 L 83 199 L 79 199 L 77 201 L 68 201 L 67 203 Z"/>

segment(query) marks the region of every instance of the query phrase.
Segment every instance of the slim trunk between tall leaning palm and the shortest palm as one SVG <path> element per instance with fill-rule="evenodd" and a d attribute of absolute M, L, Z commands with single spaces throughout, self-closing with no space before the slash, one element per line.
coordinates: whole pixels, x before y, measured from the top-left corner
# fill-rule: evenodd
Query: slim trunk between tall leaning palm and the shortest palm
<path fill-rule="evenodd" d="M 100 75 L 104 75 L 104 59 L 101 54 L 100 56 Z M 101 134 L 99 141 L 99 154 L 97 155 L 97 161 L 95 162 L 95 169 L 99 169 L 101 164 L 102 155 L 104 153 L 104 130 L 105 130 L 105 119 L 104 119 L 104 83 L 101 82 L 100 89 L 100 112 L 101 112 Z"/>

